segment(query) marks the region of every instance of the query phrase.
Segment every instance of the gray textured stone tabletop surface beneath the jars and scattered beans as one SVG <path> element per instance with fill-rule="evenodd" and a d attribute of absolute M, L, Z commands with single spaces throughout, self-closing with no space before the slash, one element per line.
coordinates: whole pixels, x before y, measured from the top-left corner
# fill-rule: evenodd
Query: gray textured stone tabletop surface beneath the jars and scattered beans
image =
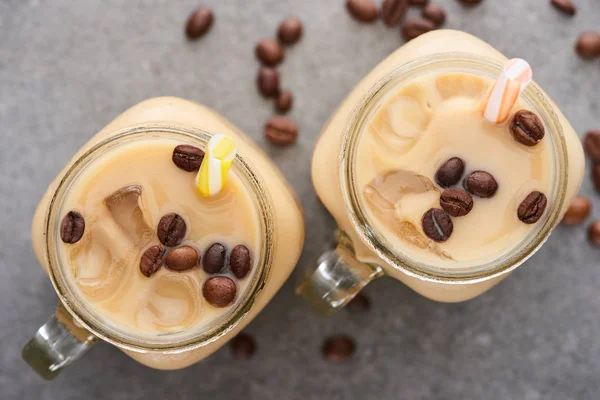
<path fill-rule="evenodd" d="M 600 2 L 576 0 L 569 19 L 548 0 L 484 0 L 473 9 L 436 0 L 447 27 L 472 32 L 508 56 L 522 56 L 575 129 L 600 128 L 600 60 L 575 56 L 573 43 L 598 29 Z M 216 24 L 189 43 L 182 30 L 199 3 Z M 0 0 L 0 398 L 29 399 L 598 399 L 600 250 L 584 226 L 559 227 L 525 266 L 480 298 L 437 304 L 392 279 L 366 289 L 373 308 L 313 315 L 293 288 L 299 270 L 248 327 L 250 361 L 228 347 L 188 369 L 148 369 L 108 345 L 95 346 L 51 383 L 20 350 L 52 312 L 55 293 L 29 237 L 48 182 L 87 139 L 129 106 L 176 95 L 226 115 L 266 149 L 304 202 L 306 264 L 333 223 L 316 203 L 309 160 L 320 127 L 354 84 L 401 45 L 396 29 L 365 26 L 343 0 Z M 414 11 L 416 13 L 416 11 Z M 271 103 L 255 90 L 255 42 L 287 15 L 305 36 L 286 54 L 283 86 L 296 95 L 298 143 L 262 139 Z M 600 217 L 600 199 L 589 179 Z M 323 338 L 355 337 L 341 365 L 320 356 Z"/>

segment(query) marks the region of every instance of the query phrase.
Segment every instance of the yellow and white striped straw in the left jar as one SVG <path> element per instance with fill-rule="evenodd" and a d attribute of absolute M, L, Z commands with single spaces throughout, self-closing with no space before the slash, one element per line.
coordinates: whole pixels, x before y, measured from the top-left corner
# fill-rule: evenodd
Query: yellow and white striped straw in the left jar
<path fill-rule="evenodd" d="M 235 154 L 235 142 L 228 136 L 218 134 L 208 141 L 204 160 L 196 175 L 200 195 L 210 197 L 221 191 Z"/>

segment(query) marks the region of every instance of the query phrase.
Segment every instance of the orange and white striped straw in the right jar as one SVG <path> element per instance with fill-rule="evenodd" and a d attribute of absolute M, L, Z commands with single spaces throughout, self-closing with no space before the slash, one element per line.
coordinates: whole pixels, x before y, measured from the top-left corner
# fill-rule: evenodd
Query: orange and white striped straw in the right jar
<path fill-rule="evenodd" d="M 527 61 L 520 58 L 507 61 L 483 103 L 483 117 L 494 124 L 504 121 L 532 78 L 533 71 Z"/>

